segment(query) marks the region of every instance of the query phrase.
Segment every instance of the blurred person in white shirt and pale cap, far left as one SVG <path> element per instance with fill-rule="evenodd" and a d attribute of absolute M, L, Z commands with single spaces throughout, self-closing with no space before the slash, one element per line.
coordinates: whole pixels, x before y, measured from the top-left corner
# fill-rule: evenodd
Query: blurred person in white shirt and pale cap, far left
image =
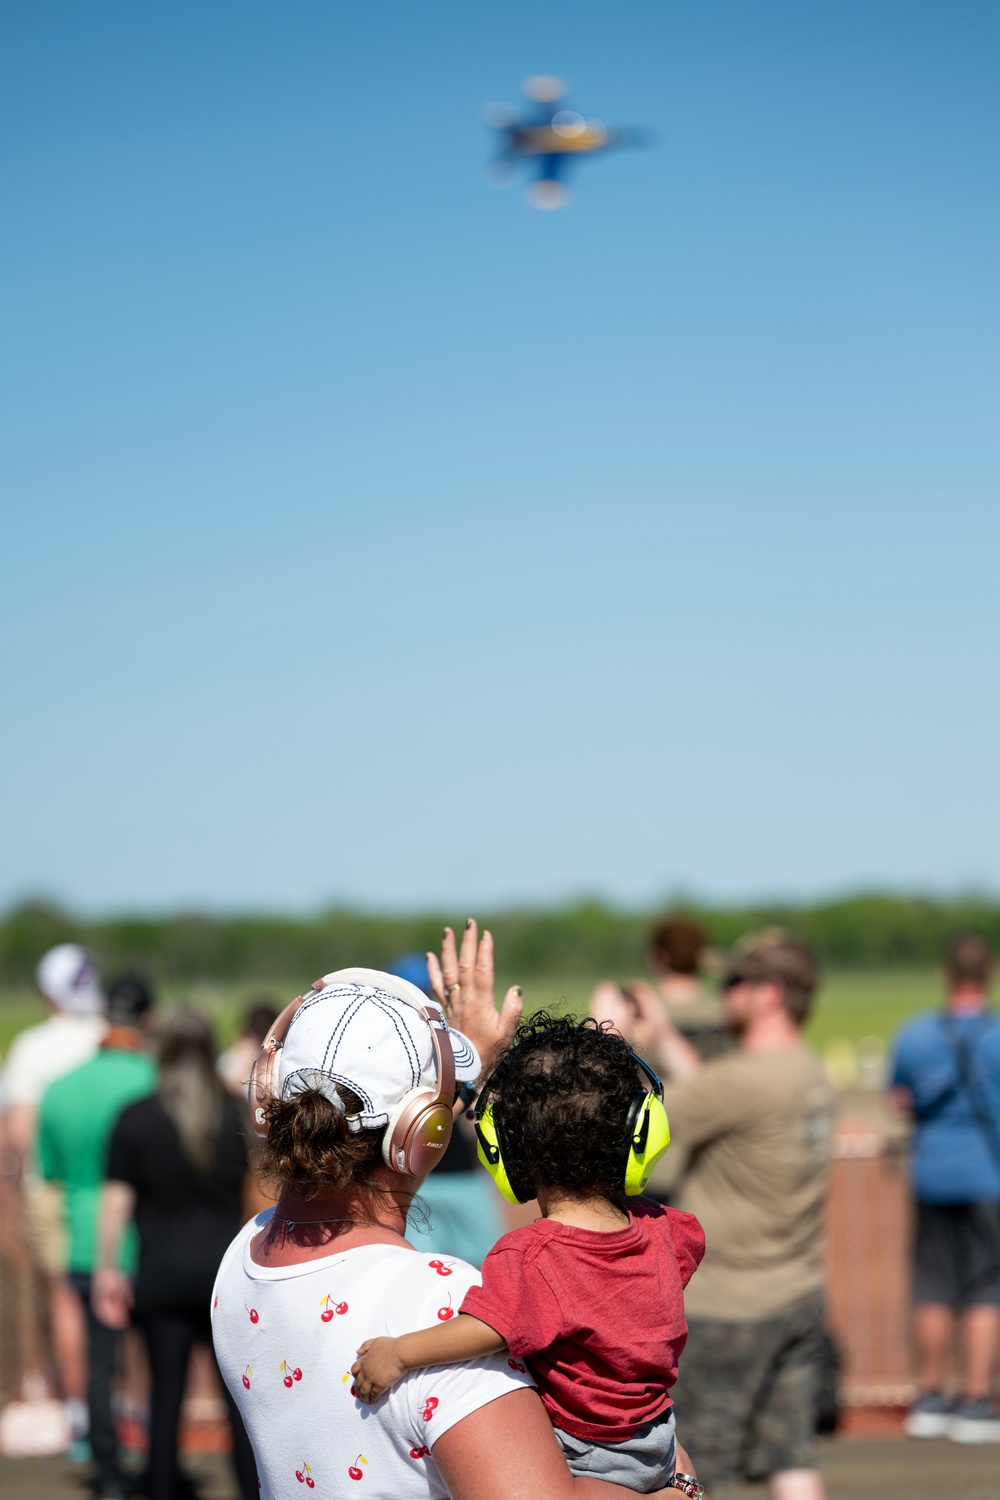
<path fill-rule="evenodd" d="M 96 1053 L 106 1030 L 97 966 L 85 948 L 63 942 L 39 960 L 34 982 L 48 1017 L 10 1042 L 3 1070 L 4 1130 L 22 1186 L 24 1234 L 33 1264 L 45 1278 L 55 1366 L 66 1398 L 70 1432 L 87 1431 L 87 1324 L 79 1298 L 66 1281 L 66 1232 L 61 1194 L 34 1170 L 37 1112 L 51 1083 Z"/>

